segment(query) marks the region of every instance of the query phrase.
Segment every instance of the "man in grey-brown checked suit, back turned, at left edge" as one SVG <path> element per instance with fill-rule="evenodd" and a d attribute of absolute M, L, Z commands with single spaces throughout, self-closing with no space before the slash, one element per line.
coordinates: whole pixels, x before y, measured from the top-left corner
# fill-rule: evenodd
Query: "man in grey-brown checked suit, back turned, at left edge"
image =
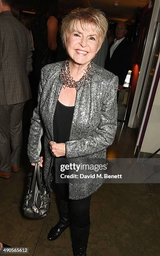
<path fill-rule="evenodd" d="M 11 0 L 0 0 L 0 177 L 20 170 L 22 116 L 32 98 L 30 33 L 11 13 Z"/>

